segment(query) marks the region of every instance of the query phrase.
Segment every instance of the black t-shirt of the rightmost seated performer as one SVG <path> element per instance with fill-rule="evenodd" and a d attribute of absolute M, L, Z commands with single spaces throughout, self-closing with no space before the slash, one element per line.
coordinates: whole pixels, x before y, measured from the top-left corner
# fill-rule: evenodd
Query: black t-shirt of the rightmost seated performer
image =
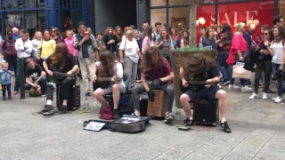
<path fill-rule="evenodd" d="M 205 72 L 200 72 L 197 76 L 193 77 L 193 81 L 207 81 L 208 79 L 212 79 L 216 76 L 220 76 L 220 72 L 216 66 L 209 68 Z M 205 85 L 196 85 L 196 84 L 189 84 L 191 90 L 193 92 L 199 92 L 205 89 Z"/>

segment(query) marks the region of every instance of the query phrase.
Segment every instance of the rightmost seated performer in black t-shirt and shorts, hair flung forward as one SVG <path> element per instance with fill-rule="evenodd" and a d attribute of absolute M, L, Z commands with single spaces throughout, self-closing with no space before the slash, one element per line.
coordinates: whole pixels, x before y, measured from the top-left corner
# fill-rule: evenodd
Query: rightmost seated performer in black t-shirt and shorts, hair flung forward
<path fill-rule="evenodd" d="M 218 107 L 221 112 L 220 125 L 224 132 L 232 132 L 226 122 L 226 93 L 220 90 L 214 83 L 220 82 L 220 74 L 216 67 L 216 63 L 212 60 L 207 60 L 200 54 L 194 54 L 190 59 L 183 60 L 180 68 L 180 76 L 183 87 L 189 87 L 190 90 L 184 92 L 180 97 L 181 106 L 183 107 L 187 119 L 184 120 L 185 126 L 192 124 L 190 101 L 198 99 L 218 100 Z M 207 85 L 188 84 L 187 81 L 206 81 Z"/>

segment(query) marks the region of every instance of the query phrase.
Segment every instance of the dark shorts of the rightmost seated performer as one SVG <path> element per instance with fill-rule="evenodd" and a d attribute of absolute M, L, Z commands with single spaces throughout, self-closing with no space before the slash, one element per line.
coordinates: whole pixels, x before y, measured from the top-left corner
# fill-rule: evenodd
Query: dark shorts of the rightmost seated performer
<path fill-rule="evenodd" d="M 218 86 L 213 86 L 211 88 L 201 90 L 199 92 L 192 92 L 191 90 L 188 90 L 184 93 L 189 96 L 191 101 L 196 101 L 198 99 L 214 100 L 216 92 L 218 92 L 219 90 L 220 89 Z"/>

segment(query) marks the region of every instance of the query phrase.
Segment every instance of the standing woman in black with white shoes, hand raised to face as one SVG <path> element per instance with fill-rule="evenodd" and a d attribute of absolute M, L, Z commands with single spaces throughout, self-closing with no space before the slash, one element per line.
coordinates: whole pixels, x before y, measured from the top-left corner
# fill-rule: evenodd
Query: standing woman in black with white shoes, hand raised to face
<path fill-rule="evenodd" d="M 249 97 L 250 100 L 256 99 L 258 97 L 258 87 L 259 87 L 259 79 L 262 76 L 262 73 L 265 73 L 265 86 L 264 86 L 264 91 L 263 91 L 263 96 L 262 99 L 267 99 L 266 92 L 269 89 L 269 84 L 270 84 L 270 77 L 272 73 L 272 60 L 273 56 L 268 52 L 265 44 L 271 44 L 273 41 L 273 31 L 270 28 L 266 28 L 263 33 L 263 41 L 261 42 L 260 45 L 260 51 L 258 52 L 259 55 L 261 55 L 263 58 L 260 62 L 260 64 L 256 64 L 256 74 L 255 74 L 255 82 L 254 82 L 254 92 L 253 94 Z"/>

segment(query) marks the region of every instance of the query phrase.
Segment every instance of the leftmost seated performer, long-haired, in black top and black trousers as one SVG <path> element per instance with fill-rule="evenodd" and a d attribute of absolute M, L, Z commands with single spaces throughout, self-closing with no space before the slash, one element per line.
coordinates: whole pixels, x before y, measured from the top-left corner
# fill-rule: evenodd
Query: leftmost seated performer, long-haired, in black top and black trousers
<path fill-rule="evenodd" d="M 48 76 L 48 84 L 46 85 L 46 105 L 42 112 L 53 110 L 53 91 L 61 90 L 62 108 L 59 108 L 61 114 L 67 113 L 67 104 L 69 98 L 70 86 L 76 84 L 73 75 L 77 73 L 77 61 L 69 54 L 66 44 L 56 44 L 55 50 L 44 62 L 46 74 Z M 58 76 L 56 73 L 66 73 L 66 76 Z M 59 86 L 61 86 L 59 88 Z"/>

